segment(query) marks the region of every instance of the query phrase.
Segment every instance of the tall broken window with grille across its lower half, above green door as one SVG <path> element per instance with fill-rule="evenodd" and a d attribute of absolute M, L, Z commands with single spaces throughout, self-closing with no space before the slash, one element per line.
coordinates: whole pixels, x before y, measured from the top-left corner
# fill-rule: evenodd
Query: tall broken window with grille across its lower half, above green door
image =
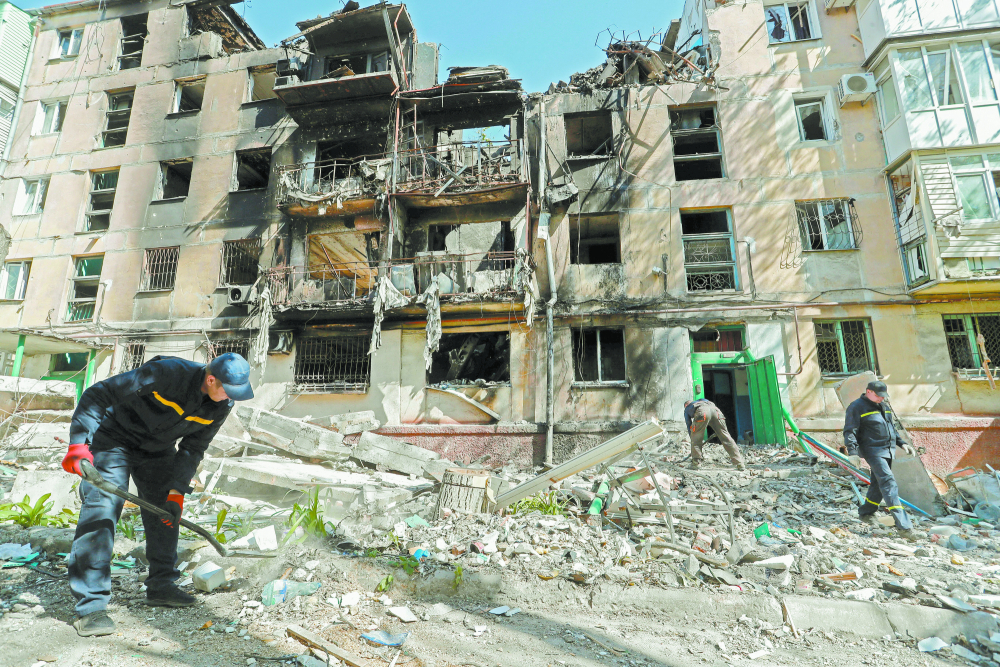
<path fill-rule="evenodd" d="M 739 284 L 729 210 L 681 211 L 689 292 L 734 290 Z"/>

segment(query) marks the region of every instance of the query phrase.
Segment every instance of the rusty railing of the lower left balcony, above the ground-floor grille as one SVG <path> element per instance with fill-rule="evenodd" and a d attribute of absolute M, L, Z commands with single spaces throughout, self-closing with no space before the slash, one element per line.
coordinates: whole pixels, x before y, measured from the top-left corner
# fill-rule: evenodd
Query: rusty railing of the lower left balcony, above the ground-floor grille
<path fill-rule="evenodd" d="M 271 303 L 280 306 L 363 299 L 375 286 L 378 266 L 344 262 L 318 266 L 280 266 L 264 272 Z"/>

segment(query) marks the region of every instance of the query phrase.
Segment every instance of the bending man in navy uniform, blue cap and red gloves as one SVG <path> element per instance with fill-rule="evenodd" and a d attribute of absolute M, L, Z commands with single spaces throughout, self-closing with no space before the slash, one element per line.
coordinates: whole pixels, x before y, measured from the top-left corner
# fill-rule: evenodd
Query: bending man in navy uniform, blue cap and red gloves
<path fill-rule="evenodd" d="M 177 536 L 184 495 L 191 492 L 191 479 L 233 401 L 250 398 L 250 365 L 232 352 L 207 366 L 154 357 L 133 371 L 96 383 L 80 398 L 63 469 L 82 476 L 80 462 L 86 459 L 124 491 L 131 477 L 140 498 L 172 515 L 164 518 L 142 510 L 148 605 L 189 607 L 195 602 L 174 584 L 180 576 Z M 107 635 L 115 631 L 106 610 L 115 525 L 125 501 L 87 482 L 80 492 L 83 507 L 69 555 L 69 586 L 79 616 L 73 627 L 81 637 Z"/>

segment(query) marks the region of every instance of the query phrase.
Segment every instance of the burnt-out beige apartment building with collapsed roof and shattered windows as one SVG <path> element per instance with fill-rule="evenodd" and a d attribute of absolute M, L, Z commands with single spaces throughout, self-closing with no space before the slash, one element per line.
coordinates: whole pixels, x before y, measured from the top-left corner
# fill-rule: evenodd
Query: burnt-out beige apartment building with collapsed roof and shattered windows
<path fill-rule="evenodd" d="M 949 472 L 998 433 L 1000 21 L 901 6 L 689 0 L 531 94 L 439 75 L 399 4 L 274 49 L 227 3 L 36 10 L 3 372 L 234 350 L 257 407 L 499 465 L 695 396 L 744 443 L 833 439 L 872 371 Z"/>

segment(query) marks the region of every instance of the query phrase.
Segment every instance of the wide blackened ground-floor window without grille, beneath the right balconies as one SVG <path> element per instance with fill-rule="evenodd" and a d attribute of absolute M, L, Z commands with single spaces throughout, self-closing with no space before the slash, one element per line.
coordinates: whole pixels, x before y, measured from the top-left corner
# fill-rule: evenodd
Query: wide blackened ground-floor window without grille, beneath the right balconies
<path fill-rule="evenodd" d="M 442 334 L 427 384 L 510 382 L 510 333 Z"/>

